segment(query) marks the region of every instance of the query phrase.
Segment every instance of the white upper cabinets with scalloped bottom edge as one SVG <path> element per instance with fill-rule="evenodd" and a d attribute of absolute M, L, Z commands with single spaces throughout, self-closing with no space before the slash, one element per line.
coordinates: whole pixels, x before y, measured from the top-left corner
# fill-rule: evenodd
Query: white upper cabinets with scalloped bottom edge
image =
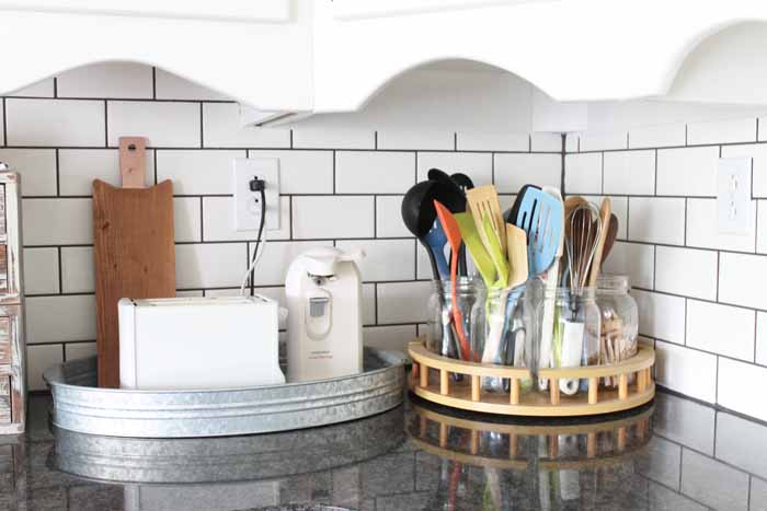
<path fill-rule="evenodd" d="M 0 94 L 139 61 L 257 123 L 353 112 L 409 70 L 460 59 L 557 102 L 767 104 L 766 21 L 762 0 L 0 0 Z"/>

